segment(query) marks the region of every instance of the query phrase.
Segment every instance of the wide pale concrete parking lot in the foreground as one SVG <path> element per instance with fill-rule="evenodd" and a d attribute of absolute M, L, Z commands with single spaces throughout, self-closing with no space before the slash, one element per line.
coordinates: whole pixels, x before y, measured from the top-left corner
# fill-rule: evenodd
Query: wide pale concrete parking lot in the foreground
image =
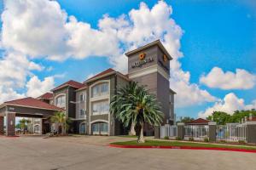
<path fill-rule="evenodd" d="M 119 149 L 122 137 L 0 137 L 0 169 L 252 170 L 256 154 L 218 150 Z"/>

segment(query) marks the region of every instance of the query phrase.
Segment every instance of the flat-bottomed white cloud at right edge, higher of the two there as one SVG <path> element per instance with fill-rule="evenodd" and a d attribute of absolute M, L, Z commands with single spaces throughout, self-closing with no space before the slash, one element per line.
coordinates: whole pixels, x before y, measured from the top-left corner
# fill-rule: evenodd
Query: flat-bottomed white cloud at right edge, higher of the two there
<path fill-rule="evenodd" d="M 242 69 L 236 69 L 234 73 L 214 67 L 207 75 L 201 76 L 200 82 L 210 88 L 249 89 L 256 84 L 256 76 Z"/>

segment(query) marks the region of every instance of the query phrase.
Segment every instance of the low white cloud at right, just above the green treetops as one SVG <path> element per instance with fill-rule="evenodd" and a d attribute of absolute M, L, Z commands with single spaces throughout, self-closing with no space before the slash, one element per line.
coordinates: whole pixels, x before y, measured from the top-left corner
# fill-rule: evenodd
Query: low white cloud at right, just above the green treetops
<path fill-rule="evenodd" d="M 201 111 L 198 116 L 211 116 L 213 111 L 224 111 L 233 114 L 234 111 L 256 109 L 256 99 L 252 104 L 246 105 L 244 99 L 239 99 L 236 94 L 230 93 L 224 96 L 224 99 L 218 100 L 212 107 L 208 107 L 206 111 Z"/>

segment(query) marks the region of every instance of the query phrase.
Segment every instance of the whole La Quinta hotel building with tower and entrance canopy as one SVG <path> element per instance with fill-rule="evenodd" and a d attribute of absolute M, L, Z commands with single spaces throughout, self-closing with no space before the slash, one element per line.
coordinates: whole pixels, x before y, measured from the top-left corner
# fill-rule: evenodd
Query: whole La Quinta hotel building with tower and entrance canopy
<path fill-rule="evenodd" d="M 0 105 L 0 133 L 3 131 L 3 116 L 7 117 L 7 135 L 14 133 L 15 116 L 40 118 L 41 133 L 47 133 L 55 128 L 54 124 L 49 122 L 49 117 L 55 111 L 65 111 L 73 120 L 71 133 L 128 133 L 128 129 L 109 113 L 109 104 L 117 90 L 131 81 L 145 85 L 148 91 L 157 97 L 165 114 L 163 124 L 172 124 L 175 92 L 170 89 L 169 82 L 171 55 L 159 40 L 125 55 L 128 58 L 127 75 L 108 69 L 84 82 L 64 82 L 52 89 L 51 93 L 43 94 L 37 99 L 16 99 L 3 103 Z M 144 129 L 145 135 L 159 136 L 157 127 L 145 125 Z"/>

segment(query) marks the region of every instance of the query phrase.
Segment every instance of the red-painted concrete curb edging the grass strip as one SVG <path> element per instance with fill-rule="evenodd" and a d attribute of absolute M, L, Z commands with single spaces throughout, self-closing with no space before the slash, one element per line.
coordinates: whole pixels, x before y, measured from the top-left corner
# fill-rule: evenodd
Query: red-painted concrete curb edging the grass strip
<path fill-rule="evenodd" d="M 245 149 L 231 149 L 231 148 L 207 148 L 207 147 L 191 147 L 191 146 L 146 146 L 146 145 L 119 145 L 119 144 L 108 144 L 114 148 L 141 148 L 141 149 L 173 149 L 173 150 L 224 150 L 224 151 L 240 151 L 256 153 L 256 150 L 245 150 Z"/>

